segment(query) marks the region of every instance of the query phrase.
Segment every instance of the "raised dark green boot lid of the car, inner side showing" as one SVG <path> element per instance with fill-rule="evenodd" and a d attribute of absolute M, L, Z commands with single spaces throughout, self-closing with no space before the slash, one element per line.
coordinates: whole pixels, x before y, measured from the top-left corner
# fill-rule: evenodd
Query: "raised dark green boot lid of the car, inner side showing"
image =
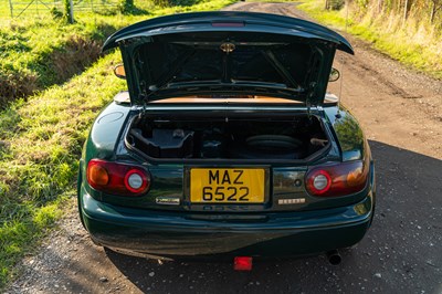
<path fill-rule="evenodd" d="M 312 22 L 264 13 L 199 12 L 147 20 L 113 34 L 130 101 L 175 96 L 267 95 L 324 102 L 339 34 Z"/>

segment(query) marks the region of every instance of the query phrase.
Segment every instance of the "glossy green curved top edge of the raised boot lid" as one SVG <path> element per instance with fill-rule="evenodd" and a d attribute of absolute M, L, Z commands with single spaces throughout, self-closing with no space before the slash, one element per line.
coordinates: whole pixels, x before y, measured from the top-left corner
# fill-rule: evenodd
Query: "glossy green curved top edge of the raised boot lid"
<path fill-rule="evenodd" d="M 290 17 L 239 11 L 192 12 L 145 20 L 115 32 L 104 43 L 103 51 L 118 46 L 120 41 L 143 35 L 156 29 L 164 30 L 167 28 L 168 33 L 172 33 L 173 31 L 180 32 L 182 25 L 213 25 L 217 23 L 222 23 L 232 31 L 242 31 L 248 25 L 259 25 L 264 32 L 269 33 L 278 33 L 281 29 L 292 29 L 335 43 L 337 49 L 354 54 L 351 45 L 344 36 L 323 25 Z"/>

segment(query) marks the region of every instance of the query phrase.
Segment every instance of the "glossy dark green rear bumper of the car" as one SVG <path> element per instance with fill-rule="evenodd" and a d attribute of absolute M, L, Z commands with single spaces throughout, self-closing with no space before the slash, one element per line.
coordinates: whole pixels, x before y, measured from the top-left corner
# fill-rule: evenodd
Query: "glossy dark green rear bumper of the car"
<path fill-rule="evenodd" d="M 112 249 L 161 258 L 291 256 L 359 242 L 371 224 L 372 195 L 322 211 L 225 216 L 110 206 L 82 189 L 81 217 L 92 239 Z"/>

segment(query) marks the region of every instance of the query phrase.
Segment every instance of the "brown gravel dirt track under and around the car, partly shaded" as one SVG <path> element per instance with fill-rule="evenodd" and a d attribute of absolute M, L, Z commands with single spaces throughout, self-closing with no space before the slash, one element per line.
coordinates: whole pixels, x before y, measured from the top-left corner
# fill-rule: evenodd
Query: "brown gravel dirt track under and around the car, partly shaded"
<path fill-rule="evenodd" d="M 294 3 L 240 2 L 229 9 L 304 17 Z M 72 207 L 61 230 L 9 293 L 442 293 L 442 81 L 349 38 L 338 54 L 343 102 L 359 118 L 377 164 L 378 207 L 368 235 L 339 266 L 324 256 L 231 264 L 165 263 L 94 246 Z M 344 67 L 343 67 L 344 66 Z M 339 92 L 339 83 L 330 88 Z M 326 240 L 324 240 L 326 242 Z"/>

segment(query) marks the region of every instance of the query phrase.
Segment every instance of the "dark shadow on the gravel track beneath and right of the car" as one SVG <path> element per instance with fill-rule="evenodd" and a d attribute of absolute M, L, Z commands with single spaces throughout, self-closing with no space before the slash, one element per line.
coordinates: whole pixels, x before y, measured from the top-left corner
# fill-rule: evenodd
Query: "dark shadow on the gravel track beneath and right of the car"
<path fill-rule="evenodd" d="M 110 262 L 141 292 L 277 293 L 442 291 L 442 161 L 370 141 L 377 172 L 377 214 L 368 235 L 339 266 L 325 256 L 231 263 L 165 262 L 106 250 Z M 327 242 L 327 240 L 324 240 Z M 296 245 L 296 244 L 293 244 Z"/>

